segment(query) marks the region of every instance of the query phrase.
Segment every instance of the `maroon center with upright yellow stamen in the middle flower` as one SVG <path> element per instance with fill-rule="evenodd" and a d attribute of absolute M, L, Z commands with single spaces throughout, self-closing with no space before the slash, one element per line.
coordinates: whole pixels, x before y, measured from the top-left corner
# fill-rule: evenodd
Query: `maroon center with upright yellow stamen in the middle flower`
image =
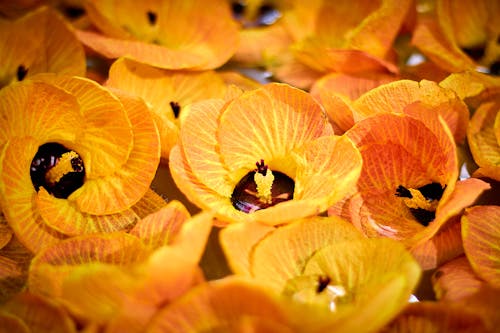
<path fill-rule="evenodd" d="M 235 186 L 231 195 L 234 208 L 251 213 L 293 199 L 295 182 L 282 172 L 271 171 L 264 161 L 247 173 Z"/>

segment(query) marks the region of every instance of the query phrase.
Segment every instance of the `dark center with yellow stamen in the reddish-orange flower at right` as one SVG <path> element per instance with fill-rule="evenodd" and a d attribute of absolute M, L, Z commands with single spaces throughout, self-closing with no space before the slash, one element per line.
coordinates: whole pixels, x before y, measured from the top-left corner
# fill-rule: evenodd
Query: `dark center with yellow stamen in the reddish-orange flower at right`
<path fill-rule="evenodd" d="M 439 183 L 430 183 L 417 189 L 399 185 L 395 195 L 403 199 L 413 217 L 426 227 L 436 217 L 436 207 L 445 188 Z"/>

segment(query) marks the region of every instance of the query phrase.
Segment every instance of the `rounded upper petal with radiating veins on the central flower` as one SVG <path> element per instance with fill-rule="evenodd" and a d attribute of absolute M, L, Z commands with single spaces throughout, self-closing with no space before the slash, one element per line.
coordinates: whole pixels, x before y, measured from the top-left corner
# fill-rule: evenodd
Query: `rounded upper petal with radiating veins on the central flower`
<path fill-rule="evenodd" d="M 230 174 L 243 176 L 261 159 L 280 171 L 285 165 L 277 161 L 305 142 L 326 135 L 328 127 L 323 109 L 305 92 L 270 84 L 243 94 L 226 107 L 219 123 L 220 153 Z M 294 174 L 293 170 L 281 171 Z"/>

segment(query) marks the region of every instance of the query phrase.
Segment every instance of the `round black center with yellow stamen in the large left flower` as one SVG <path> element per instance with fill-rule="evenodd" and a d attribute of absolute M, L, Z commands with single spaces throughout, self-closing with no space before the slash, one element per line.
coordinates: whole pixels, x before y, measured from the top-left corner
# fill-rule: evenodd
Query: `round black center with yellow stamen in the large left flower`
<path fill-rule="evenodd" d="M 43 187 L 54 197 L 66 199 L 83 185 L 85 167 L 78 153 L 50 142 L 38 148 L 30 176 L 35 190 Z"/>

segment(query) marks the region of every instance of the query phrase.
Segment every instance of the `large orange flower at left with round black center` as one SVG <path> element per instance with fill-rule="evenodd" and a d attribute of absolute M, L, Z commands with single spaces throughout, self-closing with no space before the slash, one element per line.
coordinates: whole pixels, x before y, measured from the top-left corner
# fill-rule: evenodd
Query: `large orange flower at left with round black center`
<path fill-rule="evenodd" d="M 0 95 L 0 201 L 24 246 L 126 229 L 164 205 L 149 190 L 159 140 L 140 100 L 54 75 Z"/>

